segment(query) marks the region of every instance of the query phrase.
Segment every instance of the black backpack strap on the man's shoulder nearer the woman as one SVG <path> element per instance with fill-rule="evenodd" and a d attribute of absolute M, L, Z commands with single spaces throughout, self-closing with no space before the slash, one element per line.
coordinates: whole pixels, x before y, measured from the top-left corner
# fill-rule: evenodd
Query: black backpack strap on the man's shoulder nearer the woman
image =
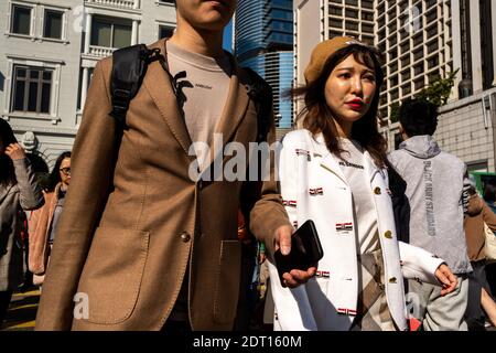
<path fill-rule="evenodd" d="M 250 77 L 248 95 L 257 107 L 257 142 L 267 141 L 272 114 L 272 87 L 250 67 L 242 67 Z"/>

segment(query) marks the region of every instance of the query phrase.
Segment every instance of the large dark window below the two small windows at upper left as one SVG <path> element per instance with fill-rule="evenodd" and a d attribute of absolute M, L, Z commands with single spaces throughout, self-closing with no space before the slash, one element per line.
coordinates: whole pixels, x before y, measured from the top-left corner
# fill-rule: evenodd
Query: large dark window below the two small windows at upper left
<path fill-rule="evenodd" d="M 53 71 L 14 66 L 12 111 L 50 114 Z"/>

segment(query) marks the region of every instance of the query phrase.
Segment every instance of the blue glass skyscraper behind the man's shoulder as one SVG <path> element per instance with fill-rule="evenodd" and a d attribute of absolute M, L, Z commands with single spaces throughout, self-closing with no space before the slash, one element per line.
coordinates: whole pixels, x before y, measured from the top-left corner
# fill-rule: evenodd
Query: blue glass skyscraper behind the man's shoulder
<path fill-rule="evenodd" d="M 292 126 L 292 101 L 282 95 L 293 82 L 293 1 L 239 0 L 235 51 L 241 66 L 262 76 L 273 89 L 279 128 Z"/>

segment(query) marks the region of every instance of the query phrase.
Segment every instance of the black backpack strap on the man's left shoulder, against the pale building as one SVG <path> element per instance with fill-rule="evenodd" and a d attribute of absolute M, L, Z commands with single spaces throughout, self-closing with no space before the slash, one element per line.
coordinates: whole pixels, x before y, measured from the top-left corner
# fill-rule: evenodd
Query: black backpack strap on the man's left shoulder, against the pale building
<path fill-rule="evenodd" d="M 144 44 L 119 49 L 112 54 L 111 97 L 114 117 L 118 126 L 126 128 L 129 104 L 138 94 L 148 65 L 160 58 L 160 50 L 149 50 Z"/>

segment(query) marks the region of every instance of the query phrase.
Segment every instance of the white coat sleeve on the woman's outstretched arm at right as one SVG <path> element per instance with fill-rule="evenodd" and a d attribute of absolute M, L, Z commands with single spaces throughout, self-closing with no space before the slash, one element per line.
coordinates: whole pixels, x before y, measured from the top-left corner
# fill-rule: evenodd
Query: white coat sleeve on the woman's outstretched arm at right
<path fill-rule="evenodd" d="M 401 271 L 405 278 L 416 279 L 422 282 L 441 286 L 435 277 L 435 270 L 444 263 L 443 259 L 435 257 L 431 253 L 403 243 L 398 242 L 401 258 Z"/>

